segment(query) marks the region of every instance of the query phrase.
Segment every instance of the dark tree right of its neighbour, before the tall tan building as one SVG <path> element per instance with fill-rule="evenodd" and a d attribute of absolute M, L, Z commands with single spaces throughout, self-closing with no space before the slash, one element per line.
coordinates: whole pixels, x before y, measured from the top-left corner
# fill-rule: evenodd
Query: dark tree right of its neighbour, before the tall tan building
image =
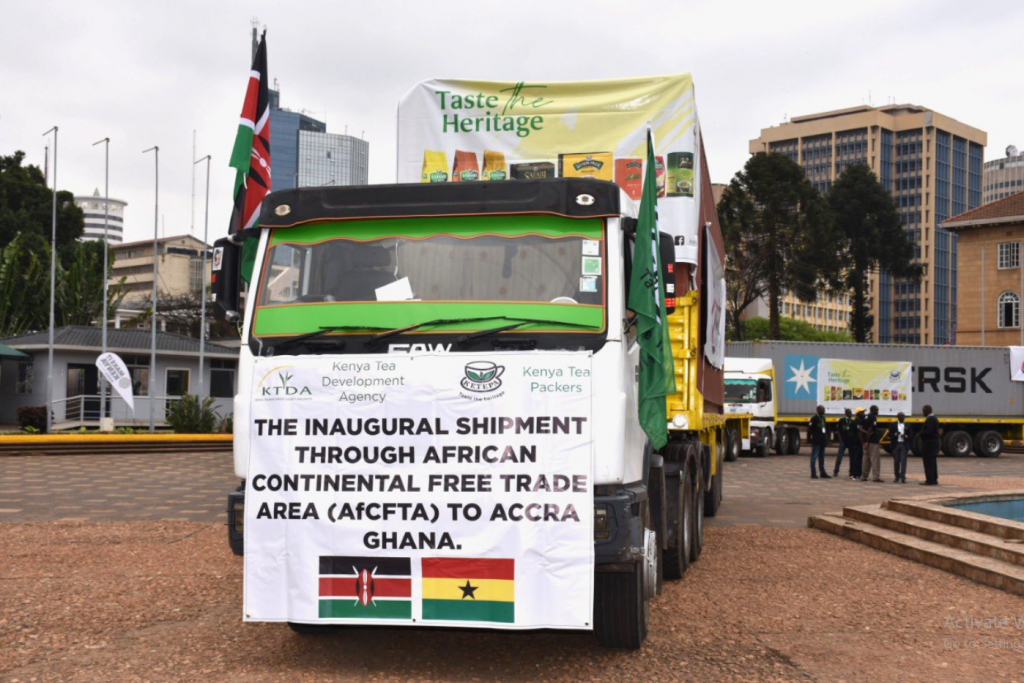
<path fill-rule="evenodd" d="M 895 278 L 916 281 L 921 266 L 914 245 L 900 227 L 892 196 L 865 164 L 848 166 L 828 193 L 833 220 L 843 236 L 842 288 L 852 291 L 850 331 L 856 342 L 866 342 L 874 326 L 867 299 L 867 276 L 885 270 Z"/>

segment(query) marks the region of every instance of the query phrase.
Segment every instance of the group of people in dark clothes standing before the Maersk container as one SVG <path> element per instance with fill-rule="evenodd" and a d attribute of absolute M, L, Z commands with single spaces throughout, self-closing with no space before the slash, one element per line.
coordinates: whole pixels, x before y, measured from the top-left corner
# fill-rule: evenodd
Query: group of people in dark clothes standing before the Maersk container
<path fill-rule="evenodd" d="M 923 410 L 925 423 L 921 427 L 922 460 L 925 464 L 925 480 L 922 485 L 939 484 L 939 419 L 931 405 Z M 850 478 L 854 481 L 882 481 L 882 441 L 888 437 L 892 443 L 893 482 L 906 483 L 906 457 L 913 440 L 913 427 L 906 422 L 902 413 L 896 421 L 884 425 L 879 422 L 879 407 L 871 405 L 865 413 L 858 408 L 856 415 L 849 408 L 839 419 L 839 453 L 831 476 L 825 471 L 825 445 L 828 443 L 828 427 L 825 423 L 825 408 L 818 405 L 817 412 L 807 423 L 808 440 L 811 443 L 811 478 L 831 479 L 839 476 L 843 455 L 850 455 Z M 815 470 L 815 463 L 817 470 Z"/>

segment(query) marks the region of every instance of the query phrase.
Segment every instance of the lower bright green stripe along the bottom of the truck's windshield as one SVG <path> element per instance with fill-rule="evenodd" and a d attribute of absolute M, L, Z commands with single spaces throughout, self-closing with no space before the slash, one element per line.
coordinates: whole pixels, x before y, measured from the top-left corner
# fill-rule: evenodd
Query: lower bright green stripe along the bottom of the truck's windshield
<path fill-rule="evenodd" d="M 401 328 L 423 321 L 451 317 L 481 317 L 508 315 L 534 317 L 581 325 L 596 326 L 595 330 L 555 328 L 559 332 L 599 332 L 604 327 L 604 309 L 598 306 L 568 306 L 552 303 L 508 302 L 428 302 L 395 301 L 390 303 L 316 303 L 282 306 L 261 306 L 256 312 L 254 330 L 259 336 L 297 335 L 318 330 L 322 326 L 366 325 L 376 328 Z M 480 321 L 426 328 L 417 332 L 468 332 L 488 330 L 507 324 L 505 321 Z M 521 332 L 541 326 L 526 325 Z M 550 328 L 550 326 L 548 327 Z M 416 334 L 416 333 L 412 333 Z M 408 336 L 407 336 L 408 338 Z"/>

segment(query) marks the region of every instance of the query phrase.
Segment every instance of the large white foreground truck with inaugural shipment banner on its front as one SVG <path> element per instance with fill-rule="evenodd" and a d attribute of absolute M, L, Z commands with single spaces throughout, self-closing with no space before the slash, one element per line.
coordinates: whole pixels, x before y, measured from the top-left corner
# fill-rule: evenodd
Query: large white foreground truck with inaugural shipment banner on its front
<path fill-rule="evenodd" d="M 505 85 L 516 87 L 489 89 Z M 538 118 L 527 120 L 534 130 L 543 125 Z M 401 131 L 399 125 L 399 155 Z M 438 155 L 427 158 L 436 163 Z M 699 160 L 693 218 L 707 227 L 691 247 L 720 264 L 724 249 L 702 150 Z M 465 156 L 456 161 L 472 168 Z M 490 157 L 485 164 L 496 173 L 499 162 Z M 583 164 L 592 168 L 593 160 Z M 354 623 L 569 628 L 593 630 L 603 646 L 635 649 L 663 582 L 681 579 L 700 557 L 705 516 L 714 516 L 723 499 L 722 463 L 738 455 L 750 428 L 749 416 L 724 414 L 722 370 L 706 348 L 714 328 L 724 354 L 724 289 L 711 283 L 722 273 L 708 259 L 679 261 L 680 237 L 658 236 L 677 392 L 667 398 L 669 441 L 654 450 L 638 420 L 640 346 L 637 316 L 627 307 L 637 203 L 621 184 L 598 177 L 473 181 L 478 174 L 477 166 L 460 182 L 435 181 L 440 171 L 433 170 L 422 182 L 274 191 L 257 226 L 215 243 L 218 314 L 237 322 L 242 338 L 234 472 L 243 483 L 228 495 L 228 543 L 245 556 L 247 620 L 288 622 L 299 633 Z M 243 309 L 247 240 L 255 258 Z M 559 416 L 572 411 L 580 417 Z M 383 431 L 368 436 L 369 424 Z M 388 424 L 398 425 L 393 434 L 407 433 L 402 424 L 421 430 L 407 439 L 408 461 L 382 451 L 402 444 L 387 435 Z M 577 431 L 544 436 L 568 425 Z M 321 430 L 348 436 L 334 440 Z M 488 436 L 476 438 L 474 430 L 512 430 L 535 440 L 487 460 Z M 582 473 L 536 472 L 534 446 L 541 462 L 547 453 L 551 463 Z M 371 467 L 368 453 L 392 461 Z M 431 454 L 458 465 L 428 464 Z M 436 516 L 437 508 L 449 514 L 445 503 L 479 503 L 493 508 L 492 516 L 389 526 L 358 516 L 379 505 L 370 498 L 356 496 L 355 512 L 344 513 L 344 499 L 331 492 L 290 497 L 289 482 L 301 488 L 332 481 L 333 470 L 312 469 L 314 460 L 349 463 L 353 472 L 401 466 L 395 471 L 408 479 L 395 495 L 400 505 Z M 480 488 L 468 505 L 454 502 L 472 486 L 497 486 L 490 472 L 502 473 L 495 477 L 503 492 Z M 435 481 L 451 485 L 451 495 L 419 488 L 433 492 Z M 510 485 L 519 495 L 503 497 Z M 381 500 L 392 494 L 378 493 Z M 325 508 L 333 526 L 325 524 Z M 564 530 L 572 522 L 591 529 L 584 548 L 579 531 Z M 309 533 L 309 550 L 284 524 L 328 530 Z M 467 552 L 475 559 L 463 558 Z M 316 596 L 303 595 L 315 593 L 315 584 L 302 583 L 303 556 L 311 564 L 319 558 L 318 613 Z M 467 575 L 473 571 L 479 573 Z M 473 582 L 495 591 L 493 605 L 472 602 Z M 461 598 L 431 597 L 456 588 Z M 325 597 L 325 590 L 344 599 Z M 391 611 L 374 611 L 377 605 Z M 462 609 L 470 614 L 465 621 Z"/>

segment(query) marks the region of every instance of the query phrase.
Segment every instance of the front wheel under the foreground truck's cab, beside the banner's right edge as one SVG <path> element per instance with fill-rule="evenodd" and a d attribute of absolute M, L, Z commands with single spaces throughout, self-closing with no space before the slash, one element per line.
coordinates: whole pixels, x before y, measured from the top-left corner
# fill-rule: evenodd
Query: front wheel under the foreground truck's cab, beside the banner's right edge
<path fill-rule="evenodd" d="M 650 551 L 646 547 L 646 531 L 651 522 L 647 504 L 642 505 L 641 528 L 644 529 L 646 557 Z M 656 536 L 650 537 L 650 541 L 656 545 Z M 629 571 L 598 571 L 594 577 L 594 632 L 602 647 L 636 650 L 647 637 L 652 583 L 645 557 L 634 563 Z"/>

